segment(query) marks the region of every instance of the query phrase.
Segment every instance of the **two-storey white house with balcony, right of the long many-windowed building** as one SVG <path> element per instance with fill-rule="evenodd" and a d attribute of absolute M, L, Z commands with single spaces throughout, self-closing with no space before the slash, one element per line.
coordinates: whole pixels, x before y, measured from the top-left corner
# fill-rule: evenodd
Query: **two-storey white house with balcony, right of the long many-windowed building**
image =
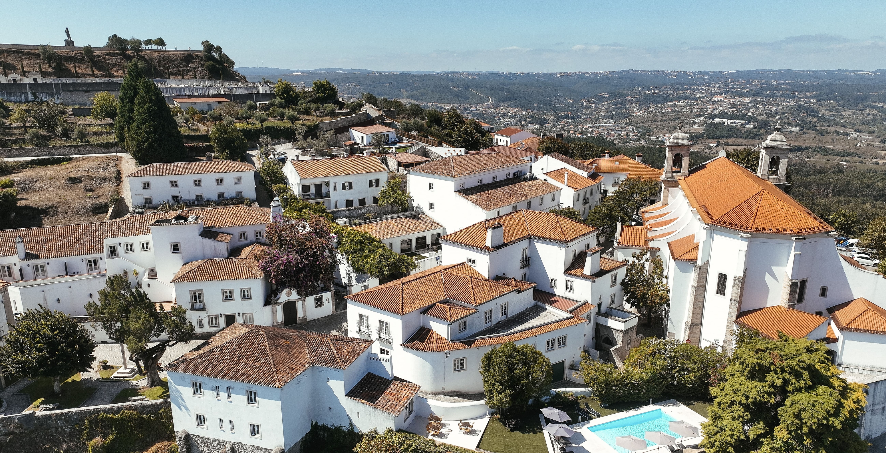
<path fill-rule="evenodd" d="M 387 183 L 387 168 L 374 156 L 290 160 L 283 170 L 292 192 L 327 209 L 377 205 Z"/>

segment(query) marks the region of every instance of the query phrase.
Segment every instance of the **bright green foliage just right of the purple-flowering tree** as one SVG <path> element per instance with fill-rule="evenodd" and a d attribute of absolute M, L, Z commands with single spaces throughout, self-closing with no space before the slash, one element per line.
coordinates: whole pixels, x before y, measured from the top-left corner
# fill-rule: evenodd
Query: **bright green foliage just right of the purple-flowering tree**
<path fill-rule="evenodd" d="M 333 228 L 338 235 L 338 253 L 345 255 L 358 273 L 386 279 L 408 276 L 418 268 L 412 257 L 392 251 L 369 233 L 338 225 Z"/>

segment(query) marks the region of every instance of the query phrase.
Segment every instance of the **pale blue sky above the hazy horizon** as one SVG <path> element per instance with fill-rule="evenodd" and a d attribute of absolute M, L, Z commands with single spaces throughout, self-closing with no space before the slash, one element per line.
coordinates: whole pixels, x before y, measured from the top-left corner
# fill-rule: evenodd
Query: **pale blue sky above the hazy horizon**
<path fill-rule="evenodd" d="M 127 4 L 132 4 L 128 6 Z M 886 67 L 886 2 L 4 2 L 0 43 L 209 39 L 237 66 L 525 72 Z"/>

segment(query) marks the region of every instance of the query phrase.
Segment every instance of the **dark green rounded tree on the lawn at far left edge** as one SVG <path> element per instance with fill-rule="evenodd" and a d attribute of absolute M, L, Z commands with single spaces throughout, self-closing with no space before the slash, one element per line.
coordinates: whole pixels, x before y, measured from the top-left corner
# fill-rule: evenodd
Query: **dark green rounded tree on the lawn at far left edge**
<path fill-rule="evenodd" d="M 55 394 L 75 372 L 89 371 L 95 339 L 86 327 L 61 311 L 27 309 L 4 336 L 4 367 L 30 379 L 50 378 Z"/>

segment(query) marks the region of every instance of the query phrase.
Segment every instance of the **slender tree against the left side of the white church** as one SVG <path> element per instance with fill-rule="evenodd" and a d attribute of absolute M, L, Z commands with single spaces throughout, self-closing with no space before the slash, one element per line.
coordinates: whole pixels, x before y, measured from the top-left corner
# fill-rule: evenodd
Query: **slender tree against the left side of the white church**
<path fill-rule="evenodd" d="M 625 302 L 645 313 L 646 325 L 650 326 L 652 316 L 671 301 L 664 262 L 660 256 L 650 259 L 645 248 L 631 257 L 633 260 L 627 263 L 625 278 L 621 280 Z"/>

